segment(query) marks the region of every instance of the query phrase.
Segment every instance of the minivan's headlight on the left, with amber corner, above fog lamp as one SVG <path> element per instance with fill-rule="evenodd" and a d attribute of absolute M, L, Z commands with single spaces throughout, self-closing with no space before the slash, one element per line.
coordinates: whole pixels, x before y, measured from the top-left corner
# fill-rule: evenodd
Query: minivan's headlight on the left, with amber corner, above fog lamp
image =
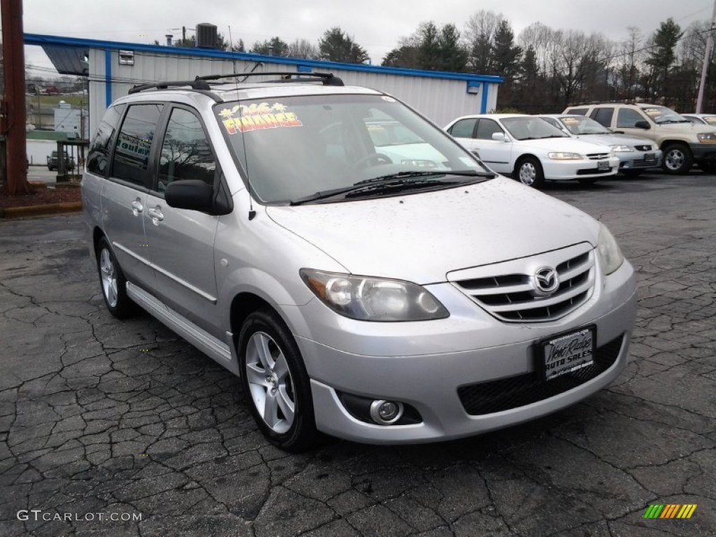
<path fill-rule="evenodd" d="M 427 290 L 409 281 L 301 269 L 301 279 L 337 314 L 359 321 L 429 321 L 450 316 Z"/>

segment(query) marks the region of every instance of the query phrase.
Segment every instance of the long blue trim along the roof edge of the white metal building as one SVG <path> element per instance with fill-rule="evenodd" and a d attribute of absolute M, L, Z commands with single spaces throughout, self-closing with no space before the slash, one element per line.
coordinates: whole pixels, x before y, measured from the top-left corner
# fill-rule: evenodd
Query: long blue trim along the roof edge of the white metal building
<path fill-rule="evenodd" d="M 397 74 L 404 77 L 437 78 L 448 80 L 475 80 L 477 82 L 490 82 L 499 84 L 503 77 L 491 74 L 449 73 L 442 71 L 422 71 L 420 69 L 402 69 L 400 67 L 380 67 L 364 64 L 342 64 L 339 62 L 322 62 L 317 59 L 284 58 L 278 56 L 263 56 L 247 52 L 224 52 L 213 49 L 188 49 L 183 47 L 166 47 L 165 45 L 122 43 L 115 41 L 100 41 L 97 39 L 80 39 L 78 37 L 59 37 L 42 34 L 24 34 L 25 44 L 59 45 L 63 47 L 92 48 L 105 50 L 133 50 L 135 52 L 151 52 L 154 54 L 173 54 L 174 56 L 193 56 L 203 58 L 240 59 L 246 62 L 263 62 L 266 64 L 304 65 L 316 70 L 326 71 L 338 69 L 343 71 L 369 72 L 377 74 Z"/>

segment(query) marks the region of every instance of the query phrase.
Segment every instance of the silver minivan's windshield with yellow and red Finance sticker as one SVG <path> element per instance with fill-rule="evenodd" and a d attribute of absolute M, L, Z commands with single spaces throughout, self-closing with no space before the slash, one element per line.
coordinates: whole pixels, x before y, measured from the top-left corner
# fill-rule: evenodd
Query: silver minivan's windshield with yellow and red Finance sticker
<path fill-rule="evenodd" d="M 294 95 L 221 102 L 214 110 L 261 203 L 395 195 L 494 176 L 386 95 Z"/>

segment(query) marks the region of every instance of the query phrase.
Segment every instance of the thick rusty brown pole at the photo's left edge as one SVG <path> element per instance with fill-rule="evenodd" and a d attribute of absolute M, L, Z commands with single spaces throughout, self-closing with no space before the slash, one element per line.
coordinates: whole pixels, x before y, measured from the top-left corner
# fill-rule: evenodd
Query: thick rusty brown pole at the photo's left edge
<path fill-rule="evenodd" d="M 22 0 L 1 0 L 2 54 L 5 96 L 0 106 L 2 134 L 6 136 L 6 186 L 10 195 L 29 193 L 27 183 L 25 54 L 22 36 Z"/>

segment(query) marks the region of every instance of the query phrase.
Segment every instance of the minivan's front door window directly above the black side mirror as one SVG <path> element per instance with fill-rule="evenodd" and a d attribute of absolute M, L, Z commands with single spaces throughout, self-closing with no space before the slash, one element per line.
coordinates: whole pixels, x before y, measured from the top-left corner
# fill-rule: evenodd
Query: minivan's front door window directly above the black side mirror
<path fill-rule="evenodd" d="M 200 179 L 213 185 L 215 174 L 216 161 L 199 118 L 175 108 L 162 143 L 157 190 L 164 192 L 169 183 L 183 179 Z"/>

